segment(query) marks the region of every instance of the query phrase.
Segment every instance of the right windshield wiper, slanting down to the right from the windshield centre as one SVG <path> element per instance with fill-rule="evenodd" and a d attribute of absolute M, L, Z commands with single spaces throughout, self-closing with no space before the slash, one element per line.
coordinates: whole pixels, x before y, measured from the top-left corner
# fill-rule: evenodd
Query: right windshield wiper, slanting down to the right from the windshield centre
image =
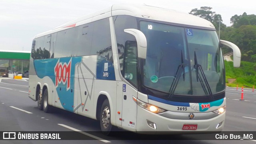
<path fill-rule="evenodd" d="M 208 93 L 209 93 L 211 99 L 213 100 L 214 97 L 213 97 L 213 95 L 212 95 L 212 90 L 211 90 L 210 85 L 209 85 L 209 83 L 208 83 L 208 81 L 207 81 L 207 79 L 206 79 L 206 76 L 205 76 L 205 74 L 204 74 L 204 70 L 203 70 L 202 66 L 201 66 L 200 64 L 198 64 L 198 62 L 197 62 L 196 51 L 194 52 L 194 61 L 195 61 L 194 68 L 196 69 L 196 80 L 198 81 L 198 79 L 199 79 L 199 81 L 200 81 L 200 83 L 201 83 L 201 85 L 202 85 L 202 88 L 204 89 L 205 94 L 207 94 L 207 92 L 206 92 L 206 88 L 205 88 L 205 86 L 204 86 L 204 83 L 206 84 Z M 198 70 L 198 69 L 199 69 L 199 70 Z M 202 81 L 201 76 L 198 74 L 199 71 L 200 71 L 201 74 L 202 74 L 202 77 L 203 77 L 203 79 L 204 79 L 204 83 L 203 83 L 203 81 Z"/>

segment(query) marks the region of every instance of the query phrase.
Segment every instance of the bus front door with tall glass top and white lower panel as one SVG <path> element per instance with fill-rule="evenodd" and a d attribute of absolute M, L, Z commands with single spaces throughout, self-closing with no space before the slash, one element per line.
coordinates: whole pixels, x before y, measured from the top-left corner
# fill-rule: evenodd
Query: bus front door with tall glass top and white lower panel
<path fill-rule="evenodd" d="M 122 128 L 130 131 L 136 130 L 137 104 L 133 96 L 137 98 L 138 86 L 138 54 L 137 43 L 127 41 L 124 47 L 123 78 L 130 84 L 122 84 Z"/>

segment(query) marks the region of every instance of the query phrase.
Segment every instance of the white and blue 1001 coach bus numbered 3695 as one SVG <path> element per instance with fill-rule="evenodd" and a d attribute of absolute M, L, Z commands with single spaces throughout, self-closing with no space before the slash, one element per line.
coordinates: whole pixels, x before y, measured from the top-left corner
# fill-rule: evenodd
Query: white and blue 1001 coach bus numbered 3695
<path fill-rule="evenodd" d="M 225 69 L 212 23 L 153 6 L 116 4 L 35 36 L 29 97 L 144 133 L 220 132 Z"/>

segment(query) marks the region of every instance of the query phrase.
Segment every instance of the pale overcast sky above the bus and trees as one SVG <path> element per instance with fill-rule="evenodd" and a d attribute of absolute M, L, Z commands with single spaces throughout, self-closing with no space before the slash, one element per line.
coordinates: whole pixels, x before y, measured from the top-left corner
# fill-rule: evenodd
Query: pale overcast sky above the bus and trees
<path fill-rule="evenodd" d="M 147 4 L 188 13 L 210 6 L 230 26 L 235 14 L 256 14 L 254 0 L 0 0 L 0 50 L 30 51 L 38 33 L 112 4 Z"/>

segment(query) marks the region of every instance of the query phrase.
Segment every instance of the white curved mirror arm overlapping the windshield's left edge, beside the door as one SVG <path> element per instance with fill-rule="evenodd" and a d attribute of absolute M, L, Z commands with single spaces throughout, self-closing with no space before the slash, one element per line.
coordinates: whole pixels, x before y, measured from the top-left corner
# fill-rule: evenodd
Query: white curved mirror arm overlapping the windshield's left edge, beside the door
<path fill-rule="evenodd" d="M 135 36 L 137 40 L 137 47 L 138 47 L 138 57 L 146 59 L 147 55 L 147 39 L 146 36 L 137 29 L 134 28 L 129 28 L 129 29 L 124 29 L 124 32 L 127 32 L 129 34 L 132 34 Z"/>

